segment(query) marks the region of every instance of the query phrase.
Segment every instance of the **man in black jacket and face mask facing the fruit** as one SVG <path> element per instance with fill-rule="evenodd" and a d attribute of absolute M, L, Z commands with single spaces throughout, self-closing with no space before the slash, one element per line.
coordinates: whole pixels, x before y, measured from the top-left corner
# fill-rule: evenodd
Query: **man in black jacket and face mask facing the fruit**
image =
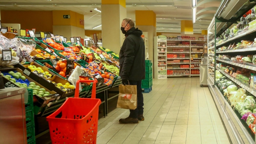
<path fill-rule="evenodd" d="M 119 54 L 119 75 L 123 84 L 137 85 L 137 108 L 130 110 L 130 116 L 120 119 L 119 123 L 137 124 L 144 120 L 141 80 L 145 79 L 145 45 L 142 31 L 134 27 L 132 19 L 124 19 L 121 25 L 125 40 Z"/>

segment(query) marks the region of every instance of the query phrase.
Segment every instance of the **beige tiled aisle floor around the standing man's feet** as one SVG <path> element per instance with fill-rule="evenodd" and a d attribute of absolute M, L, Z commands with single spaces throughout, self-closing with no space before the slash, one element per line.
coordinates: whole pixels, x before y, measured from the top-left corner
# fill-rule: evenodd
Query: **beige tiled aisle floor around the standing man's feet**
<path fill-rule="evenodd" d="M 229 144 L 208 87 L 199 77 L 153 80 L 144 93 L 145 121 L 119 124 L 129 111 L 116 108 L 99 119 L 97 144 Z"/>

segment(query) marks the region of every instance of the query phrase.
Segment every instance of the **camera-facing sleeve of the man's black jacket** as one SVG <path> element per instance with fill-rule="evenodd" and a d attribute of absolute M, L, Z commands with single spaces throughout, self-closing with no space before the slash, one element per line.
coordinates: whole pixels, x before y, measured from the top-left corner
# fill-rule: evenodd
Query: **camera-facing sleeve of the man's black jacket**
<path fill-rule="evenodd" d="M 122 80 L 128 80 L 129 73 L 135 57 L 135 43 L 131 38 L 126 38 L 123 44 L 124 63 L 122 66 Z"/>

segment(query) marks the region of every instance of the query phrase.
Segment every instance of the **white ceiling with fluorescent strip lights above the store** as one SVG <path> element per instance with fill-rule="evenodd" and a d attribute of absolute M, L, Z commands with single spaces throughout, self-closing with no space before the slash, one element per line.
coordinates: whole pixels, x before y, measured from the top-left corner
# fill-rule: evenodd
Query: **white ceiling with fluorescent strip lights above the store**
<path fill-rule="evenodd" d="M 201 0 L 203 1 L 203 0 Z M 36 6 L 7 6 L 1 3 L 41 3 Z M 54 5 L 44 5 L 42 4 L 54 4 L 54 3 L 71 3 L 71 0 L 0 0 L 0 9 L 1 10 L 20 10 L 20 11 L 52 11 L 52 10 L 71 10 L 84 15 L 84 29 L 92 30 L 93 27 L 101 24 L 101 13 L 94 10 L 94 8 L 100 9 L 100 5 L 97 6 L 54 6 Z M 72 0 L 72 3 L 95 3 L 100 4 L 101 0 Z M 180 20 L 182 19 L 191 19 L 192 20 L 192 2 L 191 0 L 126 0 L 126 3 L 174 3 L 174 6 L 126 6 L 127 17 L 135 20 L 135 11 L 136 10 L 151 10 L 156 13 L 156 17 L 173 17 L 176 19 L 168 20 L 168 19 L 157 19 L 157 31 L 179 31 L 180 30 Z M 200 3 L 200 2 L 199 2 Z M 40 6 L 41 5 L 41 6 Z M 200 9 L 206 7 L 216 6 L 219 7 L 220 2 L 210 2 L 206 4 L 200 5 L 197 8 L 197 12 Z M 179 8 L 179 6 L 183 8 Z M 178 7 L 178 8 L 175 8 Z M 185 8 L 184 8 L 185 7 Z M 92 11 L 92 12 L 90 12 Z M 214 11 L 206 11 L 197 15 L 200 16 L 206 13 L 215 13 Z M 204 19 L 210 19 L 210 17 L 206 17 Z M 161 24 L 164 22 L 164 24 Z M 209 25 L 211 21 L 196 21 L 194 24 L 194 31 L 201 32 L 203 29 L 207 29 L 208 26 L 200 26 Z M 166 23 L 178 23 L 174 24 L 166 24 Z M 161 28 L 164 27 L 164 28 Z M 171 27 L 171 28 L 170 28 Z M 201 28 L 201 29 L 200 29 Z M 93 30 L 101 30 L 101 27 L 95 28 Z"/>

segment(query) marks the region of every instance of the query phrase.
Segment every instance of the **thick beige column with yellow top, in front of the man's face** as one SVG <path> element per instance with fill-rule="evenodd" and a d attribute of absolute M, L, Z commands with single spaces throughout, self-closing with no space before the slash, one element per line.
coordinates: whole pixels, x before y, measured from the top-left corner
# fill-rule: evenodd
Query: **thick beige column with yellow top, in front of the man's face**
<path fill-rule="evenodd" d="M 121 23 L 125 18 L 125 0 L 101 0 L 102 46 L 117 54 L 124 42 Z"/>

